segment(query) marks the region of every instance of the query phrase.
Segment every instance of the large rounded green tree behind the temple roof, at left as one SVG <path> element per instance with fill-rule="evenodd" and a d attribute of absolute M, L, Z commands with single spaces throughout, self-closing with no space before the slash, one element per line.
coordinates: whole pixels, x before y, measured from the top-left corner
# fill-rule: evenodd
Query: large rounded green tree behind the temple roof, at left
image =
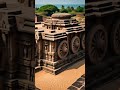
<path fill-rule="evenodd" d="M 45 12 L 47 16 L 51 16 L 53 13 L 58 12 L 59 9 L 54 5 L 47 4 L 47 5 L 41 6 L 38 9 L 38 11 L 39 12 Z"/>

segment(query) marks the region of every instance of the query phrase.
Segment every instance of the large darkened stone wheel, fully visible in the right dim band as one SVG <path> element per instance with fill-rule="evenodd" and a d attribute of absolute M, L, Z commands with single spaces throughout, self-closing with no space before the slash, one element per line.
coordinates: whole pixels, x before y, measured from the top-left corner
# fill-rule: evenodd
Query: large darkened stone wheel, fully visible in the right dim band
<path fill-rule="evenodd" d="M 103 60 L 107 52 L 107 32 L 103 25 L 95 25 L 87 36 L 87 54 L 89 60 L 93 64 L 97 64 Z"/>

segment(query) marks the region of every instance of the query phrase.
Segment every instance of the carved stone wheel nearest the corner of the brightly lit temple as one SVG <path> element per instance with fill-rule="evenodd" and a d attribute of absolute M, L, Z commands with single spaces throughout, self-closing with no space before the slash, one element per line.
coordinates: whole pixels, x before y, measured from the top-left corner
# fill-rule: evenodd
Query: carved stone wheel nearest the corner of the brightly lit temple
<path fill-rule="evenodd" d="M 60 58 L 65 58 L 68 55 L 69 46 L 66 40 L 63 40 L 58 46 L 58 56 Z"/>

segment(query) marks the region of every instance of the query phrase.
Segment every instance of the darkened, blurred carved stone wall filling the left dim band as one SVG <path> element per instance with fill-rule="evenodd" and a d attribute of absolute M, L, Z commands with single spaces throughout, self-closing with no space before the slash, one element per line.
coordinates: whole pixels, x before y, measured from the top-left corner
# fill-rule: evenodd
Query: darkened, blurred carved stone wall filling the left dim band
<path fill-rule="evenodd" d="M 34 19 L 19 8 L 0 5 L 0 90 L 34 90 Z"/>

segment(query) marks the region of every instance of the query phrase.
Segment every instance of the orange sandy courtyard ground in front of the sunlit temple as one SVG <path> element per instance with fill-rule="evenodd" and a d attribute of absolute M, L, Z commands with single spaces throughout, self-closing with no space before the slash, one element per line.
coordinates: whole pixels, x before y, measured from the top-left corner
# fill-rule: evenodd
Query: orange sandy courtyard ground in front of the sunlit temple
<path fill-rule="evenodd" d="M 78 78 L 85 74 L 85 60 L 80 60 L 58 75 L 45 71 L 35 74 L 35 85 L 41 90 L 67 90 Z"/>

